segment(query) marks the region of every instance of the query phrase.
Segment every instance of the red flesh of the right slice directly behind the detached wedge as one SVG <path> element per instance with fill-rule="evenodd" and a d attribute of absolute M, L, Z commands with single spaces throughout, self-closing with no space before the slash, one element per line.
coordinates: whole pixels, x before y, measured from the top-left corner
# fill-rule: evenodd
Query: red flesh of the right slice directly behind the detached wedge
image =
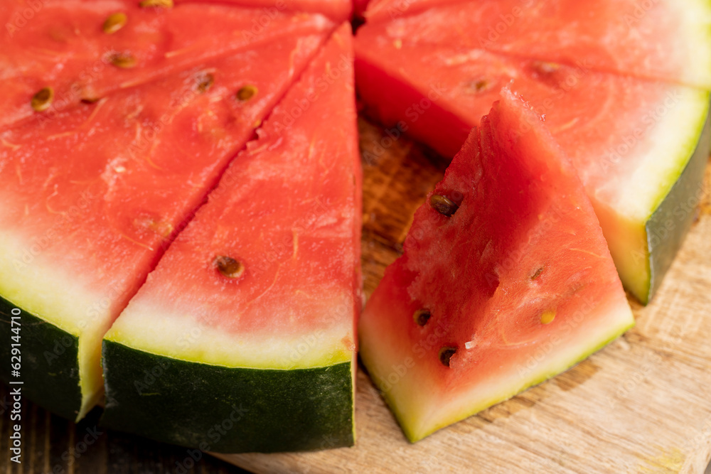
<path fill-rule="evenodd" d="M 613 207 L 629 193 L 625 187 L 634 176 L 653 160 L 650 154 L 659 144 L 648 135 L 671 133 L 675 127 L 674 134 L 686 136 L 681 142 L 697 136 L 697 129 L 674 124 L 682 109 L 693 111 L 686 102 L 704 96 L 700 90 L 479 49 L 409 39 L 397 43 L 386 30 L 366 26 L 358 32 L 358 92 L 381 122 L 395 125 L 402 119 L 415 136 L 444 156 L 454 156 L 456 144 L 466 139 L 469 128 L 479 124 L 508 84 L 544 117 L 589 195 Z M 415 95 L 407 95 L 408 89 Z M 428 102 L 435 102 L 451 117 L 437 121 L 437 128 L 419 125 L 422 117 L 414 119 L 418 109 L 412 105 L 422 98 L 427 99 L 420 104 L 420 109 L 428 107 L 425 113 L 432 107 Z M 689 120 L 704 114 L 700 102 Z"/>

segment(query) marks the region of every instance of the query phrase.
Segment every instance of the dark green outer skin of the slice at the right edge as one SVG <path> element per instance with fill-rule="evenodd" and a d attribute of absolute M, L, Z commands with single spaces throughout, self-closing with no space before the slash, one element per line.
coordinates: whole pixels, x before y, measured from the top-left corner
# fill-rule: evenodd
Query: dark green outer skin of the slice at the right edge
<path fill-rule="evenodd" d="M 704 193 L 704 171 L 711 151 L 711 114 L 697 143 L 693 156 L 674 183 L 663 202 L 646 222 L 649 291 L 636 295 L 647 304 L 659 289 L 664 275 L 684 242 L 694 222 L 697 208 Z"/>

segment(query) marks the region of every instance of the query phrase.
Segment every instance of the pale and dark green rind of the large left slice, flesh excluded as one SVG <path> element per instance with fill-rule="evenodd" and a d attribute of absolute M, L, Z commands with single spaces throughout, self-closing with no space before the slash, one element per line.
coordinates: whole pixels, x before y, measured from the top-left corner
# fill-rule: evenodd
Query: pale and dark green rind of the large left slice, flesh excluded
<path fill-rule="evenodd" d="M 112 299 L 123 300 L 126 293 L 120 281 L 92 289 L 81 272 L 71 266 L 64 268 L 44 254 L 43 241 L 50 241 L 55 234 L 55 229 L 38 236 L 8 229 L 0 233 L 0 298 L 20 309 L 23 317 L 33 318 L 33 326 L 48 330 L 48 334 L 23 331 L 23 362 L 40 365 L 49 357 L 61 369 L 57 370 L 59 366 L 54 363 L 45 363 L 45 370 L 23 379 L 23 393 L 55 414 L 79 421 L 102 399 L 101 337 L 112 322 Z M 10 335 L 4 331 L 5 328 L 0 330 L 0 337 L 9 344 Z M 70 349 L 74 345 L 77 347 Z M 70 357 L 72 351 L 75 353 Z M 63 380 L 54 376 L 60 374 L 71 377 Z M 76 382 L 73 377 L 78 377 L 81 392 L 78 408 L 68 392 Z M 58 400 L 58 393 L 62 392 L 68 394 L 66 403 Z M 52 406 L 58 408 L 51 409 Z"/>

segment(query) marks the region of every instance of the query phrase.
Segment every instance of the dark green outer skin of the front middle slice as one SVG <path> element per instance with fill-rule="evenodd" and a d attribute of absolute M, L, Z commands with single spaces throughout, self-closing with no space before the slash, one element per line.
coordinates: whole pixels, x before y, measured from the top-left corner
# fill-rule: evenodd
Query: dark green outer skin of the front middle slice
<path fill-rule="evenodd" d="M 220 453 L 353 446 L 350 362 L 258 370 L 103 344 L 109 428 Z"/>

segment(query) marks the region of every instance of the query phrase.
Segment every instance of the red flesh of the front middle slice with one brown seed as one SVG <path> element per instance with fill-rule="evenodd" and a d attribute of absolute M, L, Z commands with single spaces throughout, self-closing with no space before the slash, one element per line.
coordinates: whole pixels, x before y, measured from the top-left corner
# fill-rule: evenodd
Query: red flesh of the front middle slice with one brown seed
<path fill-rule="evenodd" d="M 350 41 L 342 33 L 338 38 Z M 177 328 L 186 314 L 204 330 L 235 338 L 276 335 L 274 328 L 289 337 L 324 327 L 352 328 L 360 162 L 352 80 L 330 76 L 348 78 L 347 57 L 336 54 L 342 48 L 331 41 L 274 108 L 257 130 L 258 139 L 235 157 L 208 204 L 178 235 L 112 333 L 179 355 L 181 348 L 173 347 L 170 335 L 160 334 Z M 233 280 L 220 275 L 214 262 L 220 255 L 243 262 L 244 275 Z M 348 301 L 348 314 L 325 317 L 339 299 Z M 154 313 L 163 316 L 154 318 Z M 346 331 L 341 338 L 350 354 L 353 335 Z"/>

